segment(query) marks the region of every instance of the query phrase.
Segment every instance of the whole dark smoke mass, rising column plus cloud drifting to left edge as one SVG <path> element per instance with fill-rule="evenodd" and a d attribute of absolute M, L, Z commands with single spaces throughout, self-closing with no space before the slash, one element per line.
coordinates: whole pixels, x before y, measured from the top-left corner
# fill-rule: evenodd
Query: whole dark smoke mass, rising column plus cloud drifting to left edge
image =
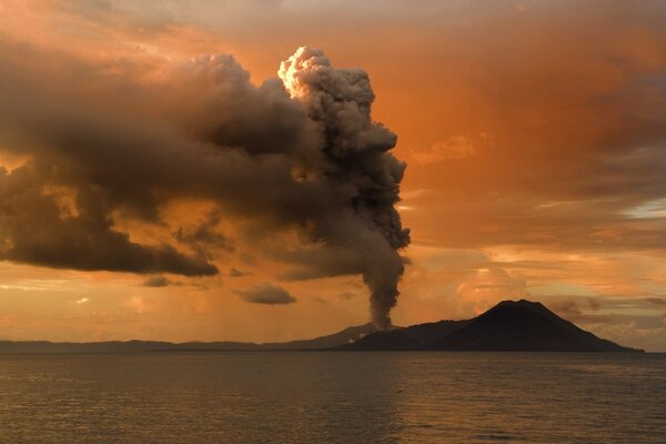
<path fill-rule="evenodd" d="M 219 223 L 241 218 L 255 238 L 299 232 L 272 252 L 294 265 L 286 278 L 362 274 L 375 324 L 390 325 L 408 243 L 394 209 L 405 164 L 371 119 L 365 72 L 301 48 L 254 87 L 230 56 L 151 77 L 0 41 L 0 149 L 28 159 L 0 171 L 0 259 L 210 275 L 216 250 L 233 254 Z M 192 198 L 215 209 L 171 240 L 142 244 L 117 223 L 164 224 L 167 203 Z"/>

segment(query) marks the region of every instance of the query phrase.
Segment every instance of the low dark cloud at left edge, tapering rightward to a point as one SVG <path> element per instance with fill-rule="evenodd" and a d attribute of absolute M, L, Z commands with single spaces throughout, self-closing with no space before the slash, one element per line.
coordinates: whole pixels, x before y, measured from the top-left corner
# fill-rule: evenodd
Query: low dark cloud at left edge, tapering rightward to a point
<path fill-rule="evenodd" d="M 80 189 L 77 214 L 44 193 L 44 175 L 32 167 L 0 169 L 0 258 L 78 270 L 171 272 L 210 275 L 218 269 L 173 246 L 141 245 L 113 226 L 104 196 Z M 64 214 L 63 214 L 64 212 Z"/>

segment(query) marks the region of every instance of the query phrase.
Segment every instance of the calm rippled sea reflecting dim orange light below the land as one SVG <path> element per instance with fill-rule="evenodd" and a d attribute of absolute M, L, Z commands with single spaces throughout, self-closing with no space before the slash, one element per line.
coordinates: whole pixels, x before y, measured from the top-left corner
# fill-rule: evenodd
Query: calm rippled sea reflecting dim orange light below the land
<path fill-rule="evenodd" d="M 666 355 L 3 355 L 0 442 L 666 443 Z"/>

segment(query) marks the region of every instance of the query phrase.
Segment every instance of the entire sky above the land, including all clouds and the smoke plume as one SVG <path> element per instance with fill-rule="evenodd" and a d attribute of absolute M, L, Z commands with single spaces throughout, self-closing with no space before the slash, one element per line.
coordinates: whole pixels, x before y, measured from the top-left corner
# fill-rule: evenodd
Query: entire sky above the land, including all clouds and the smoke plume
<path fill-rule="evenodd" d="M 665 20 L 0 0 L 0 337 L 283 341 L 528 299 L 664 352 Z"/>

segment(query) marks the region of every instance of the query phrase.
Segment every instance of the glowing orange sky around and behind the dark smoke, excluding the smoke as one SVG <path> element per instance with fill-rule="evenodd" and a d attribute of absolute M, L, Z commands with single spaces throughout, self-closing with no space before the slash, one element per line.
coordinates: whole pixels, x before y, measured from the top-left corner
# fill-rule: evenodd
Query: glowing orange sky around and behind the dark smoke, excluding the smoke
<path fill-rule="evenodd" d="M 303 44 L 365 70 L 373 119 L 398 135 L 394 154 L 407 162 L 398 209 L 412 243 L 395 324 L 528 297 L 623 345 L 666 351 L 660 2 L 31 3 L 0 0 L 0 65 L 14 69 L 2 79 L 122 117 L 185 112 L 185 99 L 165 110 L 150 88 L 202 53 L 233 54 L 256 85 Z M 0 164 L 13 171 L 31 161 L 13 143 L 30 142 L 4 131 Z M 75 211 L 74 191 L 56 185 L 42 192 Z M 211 208 L 172 199 L 162 224 L 122 211 L 113 223 L 157 244 Z M 6 219 L 0 245 L 11 242 Z M 369 320 L 360 276 L 289 279 L 280 245 L 297 234 L 258 238 L 256 223 L 216 222 L 229 244 L 211 276 L 0 262 L 0 337 L 280 341 Z M 242 297 L 265 283 L 296 302 Z"/>

